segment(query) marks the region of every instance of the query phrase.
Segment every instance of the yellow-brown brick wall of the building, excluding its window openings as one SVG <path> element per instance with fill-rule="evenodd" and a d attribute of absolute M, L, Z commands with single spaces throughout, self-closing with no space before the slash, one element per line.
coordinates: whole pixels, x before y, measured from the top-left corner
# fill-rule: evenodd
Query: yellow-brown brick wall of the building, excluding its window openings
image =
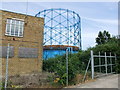
<path fill-rule="evenodd" d="M 2 24 L 0 24 L 2 32 L 0 32 L 0 42 L 2 42 L 2 46 L 7 45 L 8 43 L 14 46 L 14 57 L 9 58 L 9 75 L 27 74 L 33 71 L 41 72 L 44 19 L 8 11 L 0 11 L 0 13 L 2 13 Z M 7 18 L 24 20 L 25 25 L 23 37 L 5 35 Z M 20 46 L 38 48 L 38 58 L 18 58 L 18 49 Z M 6 58 L 2 58 L 3 76 L 5 75 L 5 67 Z"/>

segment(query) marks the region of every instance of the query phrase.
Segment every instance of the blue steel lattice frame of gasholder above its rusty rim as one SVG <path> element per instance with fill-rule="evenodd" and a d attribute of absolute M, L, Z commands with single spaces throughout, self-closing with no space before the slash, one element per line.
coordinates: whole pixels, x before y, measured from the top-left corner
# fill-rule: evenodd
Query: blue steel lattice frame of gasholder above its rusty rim
<path fill-rule="evenodd" d="M 81 48 L 80 16 L 68 9 L 47 9 L 36 14 L 44 18 L 44 45 L 69 45 Z"/>

